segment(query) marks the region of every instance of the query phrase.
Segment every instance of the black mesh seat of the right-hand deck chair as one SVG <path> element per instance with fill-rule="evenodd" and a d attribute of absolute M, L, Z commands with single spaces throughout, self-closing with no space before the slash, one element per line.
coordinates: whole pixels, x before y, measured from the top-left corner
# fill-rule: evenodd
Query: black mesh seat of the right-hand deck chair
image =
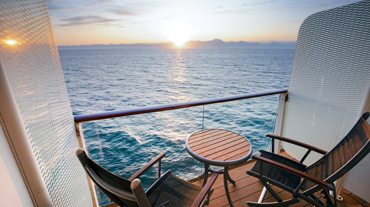
<path fill-rule="evenodd" d="M 261 157 L 265 157 L 267 159 L 276 161 L 278 163 L 292 167 L 299 171 L 303 171 L 306 168 L 305 165 L 295 162 L 281 155 L 274 154 L 269 151 L 263 151 L 263 150 L 260 150 L 259 152 L 261 152 L 261 154 L 259 155 Z M 253 166 L 253 168 L 250 171 L 260 174 L 259 173 L 259 161 L 256 162 L 256 164 Z M 285 170 L 279 169 L 277 167 L 274 167 L 272 165 L 264 165 L 262 174 L 265 177 L 276 180 L 278 183 L 281 183 L 282 185 L 285 185 L 293 189 L 295 189 L 301 181 L 301 178 L 299 176 L 293 173 L 287 172 Z"/>

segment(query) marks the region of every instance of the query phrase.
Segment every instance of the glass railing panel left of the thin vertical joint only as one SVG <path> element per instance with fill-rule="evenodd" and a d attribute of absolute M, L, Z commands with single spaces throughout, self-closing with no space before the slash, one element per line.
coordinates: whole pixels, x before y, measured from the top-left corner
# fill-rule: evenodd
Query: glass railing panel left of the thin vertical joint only
<path fill-rule="evenodd" d="M 171 171 L 184 179 L 200 172 L 185 150 L 189 132 L 202 129 L 203 106 L 167 112 L 147 113 L 82 124 L 91 158 L 105 169 L 128 179 L 160 152 L 165 152 L 162 173 Z M 145 189 L 157 179 L 154 165 L 140 180 Z M 101 192 L 99 205 L 109 204 Z"/>

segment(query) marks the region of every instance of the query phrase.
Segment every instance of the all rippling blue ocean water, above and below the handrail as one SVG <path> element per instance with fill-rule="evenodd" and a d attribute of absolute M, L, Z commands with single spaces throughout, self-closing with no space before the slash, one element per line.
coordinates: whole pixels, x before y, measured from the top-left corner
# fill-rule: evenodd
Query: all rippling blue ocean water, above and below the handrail
<path fill-rule="evenodd" d="M 59 56 L 75 115 L 286 88 L 294 50 L 90 49 L 59 50 Z M 268 150 L 265 135 L 273 132 L 277 101 L 271 95 L 92 121 L 82 128 L 92 159 L 113 173 L 129 178 L 165 152 L 162 173 L 171 169 L 190 179 L 203 169 L 185 150 L 190 134 L 226 129 L 248 138 L 254 153 Z M 144 188 L 157 170 L 141 177 Z"/>

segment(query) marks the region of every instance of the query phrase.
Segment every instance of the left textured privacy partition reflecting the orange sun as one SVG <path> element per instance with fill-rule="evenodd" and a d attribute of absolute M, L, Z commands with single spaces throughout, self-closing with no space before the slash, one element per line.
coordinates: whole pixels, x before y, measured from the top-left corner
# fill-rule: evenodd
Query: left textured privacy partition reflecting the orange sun
<path fill-rule="evenodd" d="M 0 60 L 51 201 L 55 207 L 91 207 L 46 3 L 0 1 L 0 23 Z"/>

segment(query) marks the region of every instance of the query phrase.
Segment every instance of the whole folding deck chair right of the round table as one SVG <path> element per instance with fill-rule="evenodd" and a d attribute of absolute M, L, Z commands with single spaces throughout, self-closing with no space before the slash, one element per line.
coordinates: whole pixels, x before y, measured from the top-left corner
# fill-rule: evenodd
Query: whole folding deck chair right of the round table
<path fill-rule="evenodd" d="M 334 191 L 334 181 L 346 174 L 370 152 L 370 126 L 366 121 L 370 116 L 365 112 L 357 121 L 351 131 L 340 141 L 333 150 L 317 149 L 285 137 L 267 134 L 273 140 L 281 140 L 306 148 L 307 152 L 300 162 L 275 154 L 274 152 L 260 151 L 259 156 L 253 155 L 257 160 L 248 175 L 259 178 L 263 186 L 277 200 L 276 203 L 247 202 L 254 207 L 280 207 L 300 202 L 302 199 L 316 207 L 336 207 L 336 199 L 330 197 L 330 190 Z M 310 166 L 305 166 L 303 161 L 311 151 L 324 154 L 324 156 Z M 273 184 L 292 193 L 293 198 L 282 201 L 269 184 Z M 327 203 L 322 203 L 314 193 L 322 190 Z"/>

